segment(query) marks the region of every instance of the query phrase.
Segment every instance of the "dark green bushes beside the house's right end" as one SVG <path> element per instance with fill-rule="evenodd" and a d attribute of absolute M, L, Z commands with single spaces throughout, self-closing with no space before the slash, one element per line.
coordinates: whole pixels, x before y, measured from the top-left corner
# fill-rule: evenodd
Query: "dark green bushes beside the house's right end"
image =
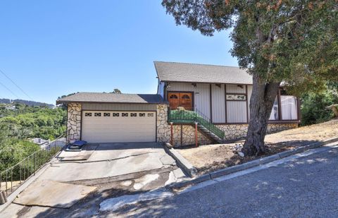
<path fill-rule="evenodd" d="M 333 117 L 327 106 L 338 104 L 338 92 L 334 85 L 326 90 L 315 93 L 308 92 L 301 98 L 301 126 L 329 121 Z"/>

